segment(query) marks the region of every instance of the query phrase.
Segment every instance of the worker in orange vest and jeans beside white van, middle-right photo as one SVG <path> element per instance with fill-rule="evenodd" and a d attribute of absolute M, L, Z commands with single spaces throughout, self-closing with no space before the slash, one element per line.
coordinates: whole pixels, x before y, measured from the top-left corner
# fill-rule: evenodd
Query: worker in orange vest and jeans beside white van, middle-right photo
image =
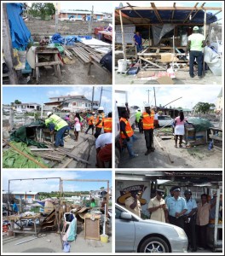
<path fill-rule="evenodd" d="M 128 119 L 129 113 L 126 110 L 122 111 L 121 118 L 119 119 L 120 137 L 123 140 L 123 144 L 126 145 L 131 159 L 138 156 L 138 154 L 135 154 L 133 151 L 133 142 L 137 139 L 137 137 L 134 134 Z"/>

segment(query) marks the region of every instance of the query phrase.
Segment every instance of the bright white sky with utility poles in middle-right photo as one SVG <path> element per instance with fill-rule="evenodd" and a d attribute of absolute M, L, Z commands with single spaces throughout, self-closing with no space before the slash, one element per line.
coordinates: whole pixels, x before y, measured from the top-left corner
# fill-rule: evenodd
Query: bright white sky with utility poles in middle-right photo
<path fill-rule="evenodd" d="M 220 93 L 222 85 L 163 85 L 161 87 L 155 87 L 156 94 L 156 105 L 161 104 L 164 106 L 169 102 L 176 100 L 177 98 L 182 97 L 182 99 L 177 100 L 176 102 L 170 103 L 167 107 L 170 108 L 192 108 L 198 102 L 209 102 L 216 103 L 217 96 Z M 116 85 L 116 90 L 127 90 L 128 91 L 128 102 L 130 106 L 138 106 L 142 108 L 144 102 L 148 101 L 148 92 L 149 91 L 149 103 L 150 105 L 155 105 L 154 103 L 154 91 L 152 86 L 141 87 L 140 85 L 128 85 L 121 86 Z M 115 94 L 115 100 L 118 101 L 118 104 L 123 104 L 125 102 L 125 96 L 121 93 Z"/>

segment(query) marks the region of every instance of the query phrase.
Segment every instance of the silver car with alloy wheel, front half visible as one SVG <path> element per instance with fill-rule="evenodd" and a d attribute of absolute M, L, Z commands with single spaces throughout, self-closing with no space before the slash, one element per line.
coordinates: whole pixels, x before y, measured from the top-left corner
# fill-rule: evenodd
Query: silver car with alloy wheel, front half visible
<path fill-rule="evenodd" d="M 180 227 L 143 220 L 116 204 L 116 253 L 187 253 L 187 235 Z"/>

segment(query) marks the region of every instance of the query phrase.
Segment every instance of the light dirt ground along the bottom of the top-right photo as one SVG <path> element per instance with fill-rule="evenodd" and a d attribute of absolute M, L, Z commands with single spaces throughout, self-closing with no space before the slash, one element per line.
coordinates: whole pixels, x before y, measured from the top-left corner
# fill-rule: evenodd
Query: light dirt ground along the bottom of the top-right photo
<path fill-rule="evenodd" d="M 157 73 L 157 71 L 156 71 Z M 174 84 L 222 84 L 222 77 L 215 76 L 209 70 L 205 73 L 205 77 L 199 79 L 196 75 L 193 79 L 190 78 L 187 71 L 179 70 L 176 72 L 176 79 L 173 79 Z M 115 71 L 115 84 L 159 84 L 156 80 L 147 80 L 136 78 L 136 75 L 126 75 Z M 166 85 L 166 84 L 165 84 Z"/>

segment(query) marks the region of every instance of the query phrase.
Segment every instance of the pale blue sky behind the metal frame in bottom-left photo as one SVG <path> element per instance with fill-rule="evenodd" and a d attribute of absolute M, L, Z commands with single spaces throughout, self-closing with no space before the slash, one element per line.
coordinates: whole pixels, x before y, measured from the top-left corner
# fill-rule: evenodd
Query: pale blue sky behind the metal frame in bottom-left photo
<path fill-rule="evenodd" d="M 109 180 L 109 187 L 112 186 L 111 171 L 9 171 L 2 172 L 3 186 L 2 190 L 8 191 L 9 179 L 17 178 L 47 178 L 61 177 L 64 179 L 106 179 Z M 21 192 L 51 192 L 59 191 L 59 179 L 44 179 L 44 180 L 26 180 L 26 181 L 11 181 L 10 191 Z M 89 191 L 97 190 L 101 187 L 107 188 L 107 182 L 64 182 L 64 191 Z"/>

